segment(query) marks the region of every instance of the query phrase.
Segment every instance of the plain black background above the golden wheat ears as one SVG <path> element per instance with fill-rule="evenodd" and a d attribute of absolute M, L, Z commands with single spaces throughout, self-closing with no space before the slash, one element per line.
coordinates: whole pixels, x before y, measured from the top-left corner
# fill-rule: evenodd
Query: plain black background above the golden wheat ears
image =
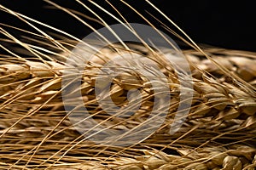
<path fill-rule="evenodd" d="M 81 5 L 74 1 L 54 1 L 61 4 L 66 8 L 73 8 L 82 12 L 83 14 L 90 14 Z M 85 4 L 101 15 L 108 24 L 117 23 L 111 19 L 107 14 L 102 13 L 98 8 L 95 8 L 90 3 L 83 1 Z M 124 14 L 125 18 L 129 22 L 137 22 L 144 24 L 145 22 L 130 8 L 120 3 L 118 0 L 110 1 L 116 8 L 119 8 L 120 12 Z M 158 19 L 163 21 L 167 26 L 172 26 L 167 22 L 160 14 L 150 8 L 150 6 L 143 0 L 127 0 L 134 8 L 144 14 L 147 18 L 150 18 L 145 10 L 148 10 L 151 14 L 154 14 Z M 155 6 L 160 8 L 168 17 L 170 17 L 177 26 L 185 31 L 189 37 L 199 44 L 209 44 L 220 48 L 233 48 L 256 51 L 256 26 L 255 16 L 256 9 L 253 1 L 230 1 L 230 3 L 224 3 L 224 1 L 167 1 L 157 0 L 151 1 Z M 96 1 L 103 8 L 113 12 L 113 9 L 104 1 Z M 48 8 L 49 3 L 45 3 L 40 0 L 5 0 L 1 1 L 5 7 L 11 8 L 21 14 L 26 14 L 33 19 L 40 20 L 55 26 L 63 31 L 73 34 L 76 37 L 85 37 L 90 33 L 90 29 L 86 29 L 79 21 L 74 20 L 68 14 L 63 11 L 53 8 Z M 115 14 L 118 16 L 118 14 Z M 9 24 L 12 26 L 21 26 L 20 21 L 17 21 L 15 17 L 10 14 L 0 12 L 0 22 Z M 155 20 L 155 25 L 160 26 Z M 90 22 L 92 26 L 100 28 L 101 26 Z M 164 29 L 161 29 L 165 31 Z M 170 33 L 168 33 L 170 34 Z"/>

